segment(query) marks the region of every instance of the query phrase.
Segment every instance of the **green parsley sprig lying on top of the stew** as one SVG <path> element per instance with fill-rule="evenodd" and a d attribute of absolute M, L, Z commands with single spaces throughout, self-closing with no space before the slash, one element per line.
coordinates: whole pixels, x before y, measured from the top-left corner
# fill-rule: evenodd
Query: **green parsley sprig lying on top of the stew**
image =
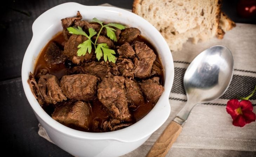
<path fill-rule="evenodd" d="M 97 34 L 97 32 L 93 28 L 89 28 L 89 35 L 87 35 L 86 32 L 83 31 L 82 28 L 79 27 L 79 26 L 78 26 L 78 28 L 76 28 L 76 27 L 68 27 L 67 28 L 67 30 L 71 34 L 83 35 L 83 36 L 86 36 L 88 38 L 87 40 L 85 40 L 85 42 L 78 45 L 78 48 L 79 48 L 78 52 L 77 52 L 78 56 L 85 55 L 87 51 L 88 51 L 88 53 L 91 53 L 92 52 L 92 45 L 94 45 L 96 58 L 98 60 L 100 60 L 101 57 L 103 56 L 105 62 L 108 60 L 109 62 L 114 62 L 115 63 L 116 57 L 113 55 L 113 54 L 116 54 L 115 51 L 109 49 L 109 47 L 106 43 L 97 44 L 97 40 L 100 36 L 100 33 L 101 33 L 102 29 L 106 28 L 107 36 L 111 40 L 114 40 L 115 42 L 117 42 L 116 35 L 115 35 L 116 30 L 113 27 L 118 28 L 120 30 L 123 30 L 126 27 L 122 24 L 117 24 L 117 23 L 103 24 L 102 21 L 98 20 L 95 17 L 93 18 L 92 22 L 97 22 L 101 25 L 101 29 L 98 32 L 98 35 L 95 39 L 95 42 L 93 42 L 91 40 L 91 38 Z"/>

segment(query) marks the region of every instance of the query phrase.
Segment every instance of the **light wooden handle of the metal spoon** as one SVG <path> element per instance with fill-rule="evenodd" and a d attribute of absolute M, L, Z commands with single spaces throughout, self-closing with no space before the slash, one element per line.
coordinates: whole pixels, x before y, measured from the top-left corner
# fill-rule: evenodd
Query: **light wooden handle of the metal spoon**
<path fill-rule="evenodd" d="M 157 139 L 153 147 L 149 150 L 147 157 L 164 157 L 171 148 L 171 145 L 176 141 L 180 135 L 182 126 L 175 121 L 167 126 L 161 136 Z"/>

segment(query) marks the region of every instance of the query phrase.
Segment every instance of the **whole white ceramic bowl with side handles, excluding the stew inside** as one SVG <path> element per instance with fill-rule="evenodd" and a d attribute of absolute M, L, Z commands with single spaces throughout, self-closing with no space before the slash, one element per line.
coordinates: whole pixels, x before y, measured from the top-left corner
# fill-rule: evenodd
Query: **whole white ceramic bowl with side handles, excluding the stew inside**
<path fill-rule="evenodd" d="M 36 58 L 42 48 L 62 30 L 61 19 L 73 17 L 80 11 L 83 19 L 96 17 L 105 22 L 117 22 L 141 31 L 156 48 L 164 69 L 164 92 L 155 107 L 132 126 L 106 133 L 88 133 L 68 128 L 52 119 L 39 105 L 27 83 L 29 72 L 33 72 Z M 45 128 L 50 139 L 74 156 L 121 156 L 143 144 L 169 117 L 169 93 L 174 79 L 173 58 L 161 34 L 142 17 L 127 10 L 83 6 L 78 3 L 63 3 L 47 10 L 32 25 L 33 37 L 22 62 L 22 84 L 36 118 Z"/>

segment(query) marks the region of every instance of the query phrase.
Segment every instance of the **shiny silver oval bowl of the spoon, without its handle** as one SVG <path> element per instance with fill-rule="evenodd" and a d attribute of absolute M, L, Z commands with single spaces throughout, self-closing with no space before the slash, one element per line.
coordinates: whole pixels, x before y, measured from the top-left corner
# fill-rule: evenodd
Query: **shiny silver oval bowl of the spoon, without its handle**
<path fill-rule="evenodd" d="M 233 66 L 233 56 L 224 46 L 213 46 L 197 55 L 184 75 L 188 100 L 206 103 L 223 95 L 233 76 Z"/>

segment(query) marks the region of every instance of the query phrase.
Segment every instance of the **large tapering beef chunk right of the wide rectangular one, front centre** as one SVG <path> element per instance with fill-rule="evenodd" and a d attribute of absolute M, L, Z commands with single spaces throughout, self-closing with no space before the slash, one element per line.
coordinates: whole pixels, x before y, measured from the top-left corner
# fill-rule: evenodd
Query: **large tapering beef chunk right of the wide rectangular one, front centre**
<path fill-rule="evenodd" d="M 106 106 L 112 117 L 130 121 L 126 91 L 124 89 L 124 77 L 114 76 L 104 78 L 98 85 L 98 99 Z"/>

